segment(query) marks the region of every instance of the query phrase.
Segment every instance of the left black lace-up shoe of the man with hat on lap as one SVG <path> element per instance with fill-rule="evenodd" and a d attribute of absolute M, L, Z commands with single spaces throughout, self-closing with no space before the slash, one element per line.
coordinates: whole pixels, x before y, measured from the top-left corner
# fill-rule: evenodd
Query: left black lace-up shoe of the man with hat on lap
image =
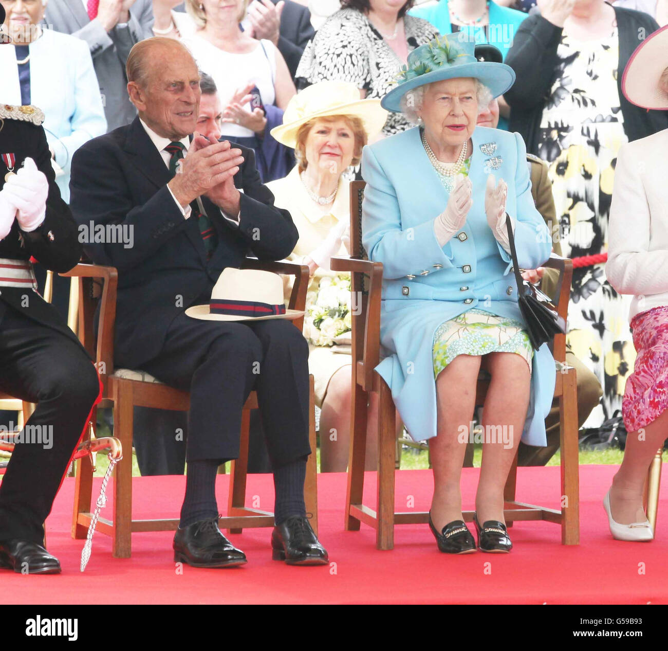
<path fill-rule="evenodd" d="M 178 529 L 172 546 L 174 563 L 192 567 L 235 567 L 248 562 L 246 555 L 222 535 L 218 517 Z"/>

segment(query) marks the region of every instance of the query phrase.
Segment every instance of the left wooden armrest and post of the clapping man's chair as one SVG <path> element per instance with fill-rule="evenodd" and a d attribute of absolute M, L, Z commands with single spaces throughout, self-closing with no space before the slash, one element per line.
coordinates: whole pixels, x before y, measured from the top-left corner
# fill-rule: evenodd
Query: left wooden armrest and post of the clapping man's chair
<path fill-rule="evenodd" d="M 59 274 L 63 277 L 79 278 L 79 340 L 88 354 L 94 358 L 96 368 L 106 396 L 107 378 L 114 372 L 114 323 L 116 322 L 116 292 L 118 271 L 116 267 L 79 263 L 73 269 Z M 102 280 L 100 296 L 100 321 L 98 322 L 97 346 L 94 336 L 95 305 L 92 297 L 83 291 L 83 279 Z"/>

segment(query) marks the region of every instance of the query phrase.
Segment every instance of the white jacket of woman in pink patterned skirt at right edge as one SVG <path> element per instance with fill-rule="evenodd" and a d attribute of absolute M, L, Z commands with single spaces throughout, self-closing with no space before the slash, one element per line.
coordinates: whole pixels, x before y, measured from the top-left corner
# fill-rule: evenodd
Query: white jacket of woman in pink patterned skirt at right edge
<path fill-rule="evenodd" d="M 605 273 L 635 294 L 629 320 L 668 305 L 668 129 L 624 144 L 617 154 Z"/>

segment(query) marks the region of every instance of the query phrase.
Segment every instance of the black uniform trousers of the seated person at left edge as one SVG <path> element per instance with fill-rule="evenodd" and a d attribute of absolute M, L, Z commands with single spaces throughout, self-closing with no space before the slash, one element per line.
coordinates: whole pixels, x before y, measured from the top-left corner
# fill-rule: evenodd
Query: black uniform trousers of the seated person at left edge
<path fill-rule="evenodd" d="M 76 342 L 7 305 L 0 390 L 37 403 L 0 482 L 0 540 L 41 544 L 43 523 L 100 394 L 98 373 Z"/>

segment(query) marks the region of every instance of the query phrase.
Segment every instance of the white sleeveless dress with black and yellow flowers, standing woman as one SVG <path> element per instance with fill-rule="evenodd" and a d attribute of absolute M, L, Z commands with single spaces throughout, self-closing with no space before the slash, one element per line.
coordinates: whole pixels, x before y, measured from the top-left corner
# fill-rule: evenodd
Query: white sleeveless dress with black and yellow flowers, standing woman
<path fill-rule="evenodd" d="M 607 251 L 615 162 L 628 140 L 617 90 L 617 29 L 591 41 L 564 35 L 557 56 L 558 75 L 542 114 L 538 154 L 549 164 L 563 255 L 576 258 Z M 635 361 L 630 301 L 607 281 L 605 263 L 573 269 L 567 340 L 603 387 L 602 405 L 587 426 L 599 426 L 621 408 Z"/>

